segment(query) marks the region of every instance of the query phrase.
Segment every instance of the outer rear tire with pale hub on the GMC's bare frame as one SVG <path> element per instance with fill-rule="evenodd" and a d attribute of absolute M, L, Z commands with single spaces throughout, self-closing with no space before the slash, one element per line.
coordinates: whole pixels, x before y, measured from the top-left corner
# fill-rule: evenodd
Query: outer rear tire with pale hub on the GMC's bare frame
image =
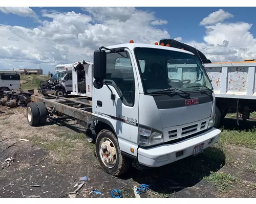
<path fill-rule="evenodd" d="M 29 103 L 27 106 L 27 120 L 30 126 L 38 125 L 40 121 L 40 112 L 36 103 Z"/>

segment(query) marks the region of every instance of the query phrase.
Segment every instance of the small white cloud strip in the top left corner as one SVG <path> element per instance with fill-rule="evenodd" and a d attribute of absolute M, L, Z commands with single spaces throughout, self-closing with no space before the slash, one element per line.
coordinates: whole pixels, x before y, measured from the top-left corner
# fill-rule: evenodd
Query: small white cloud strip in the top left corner
<path fill-rule="evenodd" d="M 36 14 L 29 7 L 0 7 L 0 11 L 3 13 L 12 13 L 23 17 L 35 17 Z"/>

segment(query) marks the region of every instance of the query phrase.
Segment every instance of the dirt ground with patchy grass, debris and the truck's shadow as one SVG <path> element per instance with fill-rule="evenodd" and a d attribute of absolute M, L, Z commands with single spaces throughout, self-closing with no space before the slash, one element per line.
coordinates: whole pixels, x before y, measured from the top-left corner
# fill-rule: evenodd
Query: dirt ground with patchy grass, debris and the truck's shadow
<path fill-rule="evenodd" d="M 61 197 L 73 192 L 83 176 L 89 180 L 76 197 L 111 197 L 112 189 L 135 197 L 133 187 L 141 184 L 155 186 L 141 197 L 256 197 L 256 172 L 250 163 L 256 158 L 254 149 L 228 146 L 223 152 L 215 145 L 164 167 L 131 167 L 116 178 L 100 168 L 82 131 L 75 121 L 54 118 L 31 127 L 25 108 L 0 106 L 0 197 Z M 229 152 L 232 162 L 227 163 Z"/>

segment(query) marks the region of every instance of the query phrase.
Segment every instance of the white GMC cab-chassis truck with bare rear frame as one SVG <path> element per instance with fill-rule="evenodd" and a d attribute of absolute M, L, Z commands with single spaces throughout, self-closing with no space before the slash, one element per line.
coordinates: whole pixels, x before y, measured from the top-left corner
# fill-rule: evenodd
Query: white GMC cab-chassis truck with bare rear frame
<path fill-rule="evenodd" d="M 177 66 L 186 72 L 185 80 L 168 77 L 167 70 Z M 121 175 L 132 164 L 164 166 L 196 156 L 219 140 L 221 131 L 213 127 L 215 94 L 193 53 L 130 41 L 100 47 L 93 63 L 78 62 L 72 71 L 73 92 L 86 78 L 93 84 L 92 97 L 31 95 L 28 123 L 45 124 L 48 114 L 77 119 L 109 174 Z"/>

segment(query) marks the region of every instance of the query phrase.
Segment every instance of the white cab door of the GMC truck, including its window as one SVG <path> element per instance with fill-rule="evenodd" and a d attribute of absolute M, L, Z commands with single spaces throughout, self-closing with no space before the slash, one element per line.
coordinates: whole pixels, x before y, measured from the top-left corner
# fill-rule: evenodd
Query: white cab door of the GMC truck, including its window
<path fill-rule="evenodd" d="M 93 90 L 93 110 L 111 121 L 120 149 L 137 156 L 139 90 L 130 50 L 106 54 L 106 85 Z M 131 147 L 134 152 L 131 152 Z"/>

